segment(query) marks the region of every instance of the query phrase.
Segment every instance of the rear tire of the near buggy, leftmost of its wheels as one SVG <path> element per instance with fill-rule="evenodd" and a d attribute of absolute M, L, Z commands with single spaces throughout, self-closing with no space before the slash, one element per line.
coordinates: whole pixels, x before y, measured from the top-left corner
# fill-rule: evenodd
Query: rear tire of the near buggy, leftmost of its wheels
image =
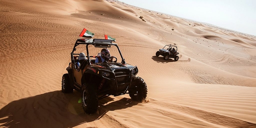
<path fill-rule="evenodd" d="M 74 89 L 70 86 L 68 73 L 62 76 L 61 91 L 64 93 L 71 93 Z"/>

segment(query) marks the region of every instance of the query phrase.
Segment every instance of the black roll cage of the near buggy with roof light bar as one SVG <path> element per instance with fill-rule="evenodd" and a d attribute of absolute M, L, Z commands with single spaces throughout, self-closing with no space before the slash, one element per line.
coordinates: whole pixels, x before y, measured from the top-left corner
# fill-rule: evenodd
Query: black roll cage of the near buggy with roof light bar
<path fill-rule="evenodd" d="M 73 53 L 74 51 L 76 51 L 76 46 L 80 45 L 80 44 L 86 44 L 86 53 L 87 53 L 87 61 L 88 61 L 88 65 L 92 65 L 91 64 L 91 60 L 90 60 L 90 56 L 89 56 L 89 50 L 88 50 L 88 45 L 93 45 L 94 47 L 99 47 L 99 48 L 109 48 L 111 47 L 111 45 L 114 45 L 117 47 L 119 54 L 122 58 L 122 62 L 123 64 L 125 64 L 125 59 L 123 58 L 123 55 L 119 49 L 119 47 L 117 46 L 116 43 L 112 43 L 112 42 L 116 42 L 116 41 L 112 41 L 112 40 L 107 40 L 107 39 L 77 39 L 76 43 L 74 45 L 74 48 L 72 50 L 72 52 L 70 53 L 72 60 L 74 60 L 74 56 Z"/>

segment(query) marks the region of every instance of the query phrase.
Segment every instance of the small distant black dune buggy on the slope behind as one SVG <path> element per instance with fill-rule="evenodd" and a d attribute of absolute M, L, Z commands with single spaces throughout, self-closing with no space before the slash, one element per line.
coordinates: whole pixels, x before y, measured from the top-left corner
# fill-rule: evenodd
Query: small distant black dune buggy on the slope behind
<path fill-rule="evenodd" d="M 175 61 L 179 60 L 179 52 L 177 46 L 169 44 L 165 45 L 164 48 L 159 49 L 159 51 L 156 52 L 156 56 L 164 56 L 164 60 L 168 60 L 168 58 L 174 58 Z"/>

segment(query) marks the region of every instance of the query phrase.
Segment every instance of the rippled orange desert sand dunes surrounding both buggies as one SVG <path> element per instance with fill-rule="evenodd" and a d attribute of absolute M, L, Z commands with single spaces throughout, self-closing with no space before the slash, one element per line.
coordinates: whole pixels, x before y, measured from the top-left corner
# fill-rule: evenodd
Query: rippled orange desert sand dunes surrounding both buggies
<path fill-rule="evenodd" d="M 1 0 L 0 19 L 1 128 L 256 127 L 253 35 L 104 0 Z M 80 92 L 61 92 L 83 28 L 116 38 L 147 102 L 110 96 L 88 115 Z M 178 61 L 156 57 L 166 44 Z"/>

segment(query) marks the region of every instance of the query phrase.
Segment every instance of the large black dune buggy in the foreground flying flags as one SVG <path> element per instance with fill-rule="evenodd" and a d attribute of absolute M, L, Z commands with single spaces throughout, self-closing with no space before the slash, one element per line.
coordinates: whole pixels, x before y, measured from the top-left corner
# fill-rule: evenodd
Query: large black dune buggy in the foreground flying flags
<path fill-rule="evenodd" d="M 136 76 L 137 66 L 125 63 L 119 47 L 112 42 L 106 39 L 77 39 L 71 52 L 68 73 L 62 76 L 62 92 L 71 93 L 74 89 L 81 92 L 83 109 L 88 114 L 97 111 L 98 100 L 110 95 L 129 94 L 132 100 L 139 102 L 147 97 L 146 83 Z M 114 48 L 113 46 L 117 49 L 116 54 L 120 54 L 118 57 L 121 62 L 117 62 L 115 57 L 112 62 L 95 63 L 97 56 L 90 56 L 89 49 L 93 52 L 95 49 L 100 51 L 102 48 Z M 86 53 L 76 52 L 78 48 Z"/>

